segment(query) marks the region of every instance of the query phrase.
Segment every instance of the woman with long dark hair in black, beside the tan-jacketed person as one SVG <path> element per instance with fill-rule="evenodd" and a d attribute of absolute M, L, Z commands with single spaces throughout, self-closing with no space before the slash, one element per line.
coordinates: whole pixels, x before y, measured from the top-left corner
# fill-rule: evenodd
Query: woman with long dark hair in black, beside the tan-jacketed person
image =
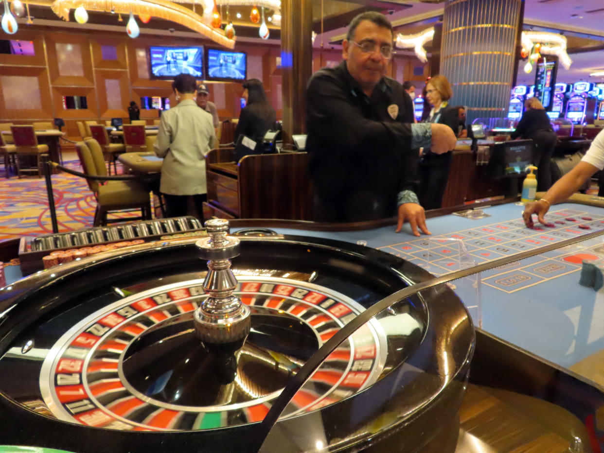
<path fill-rule="evenodd" d="M 260 80 L 249 79 L 243 82 L 243 98 L 245 98 L 246 105 L 241 109 L 234 135 L 235 143 L 237 143 L 234 152 L 236 161 L 248 154 L 259 153 L 266 132 L 271 130 L 277 122 L 275 109 L 269 104 Z M 255 149 L 252 150 L 245 144 L 239 143 L 240 135 L 255 141 Z"/>

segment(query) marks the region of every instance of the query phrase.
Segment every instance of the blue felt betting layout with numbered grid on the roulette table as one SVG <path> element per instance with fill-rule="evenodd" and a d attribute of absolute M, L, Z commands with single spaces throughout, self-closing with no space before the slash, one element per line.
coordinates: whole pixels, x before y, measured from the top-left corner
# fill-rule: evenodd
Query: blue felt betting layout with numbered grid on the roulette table
<path fill-rule="evenodd" d="M 448 239 L 461 239 L 473 262 L 486 263 L 604 230 L 604 209 L 598 207 L 555 205 L 545 216 L 553 228 L 536 223 L 535 230 L 524 226 L 522 210 L 507 204 L 484 209 L 490 214 L 484 219 L 454 215 L 428 219 L 432 235 L 421 237 L 411 236 L 408 225 L 400 234 L 394 233 L 394 226 L 338 233 L 277 231 L 353 243 L 364 240 L 367 246 L 444 275 L 460 268 L 458 248 Z M 451 287 L 466 303 L 475 324 L 542 358 L 571 367 L 604 350 L 604 288 L 596 292 L 579 284 L 582 260 L 602 257 L 604 236 L 482 272 L 472 276 L 471 286 L 455 280 Z"/>

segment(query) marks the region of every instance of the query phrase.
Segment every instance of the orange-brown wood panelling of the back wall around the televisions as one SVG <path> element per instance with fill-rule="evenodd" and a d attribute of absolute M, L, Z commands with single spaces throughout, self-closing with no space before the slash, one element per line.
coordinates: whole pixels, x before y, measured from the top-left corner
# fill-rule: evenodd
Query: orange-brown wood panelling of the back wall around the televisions
<path fill-rule="evenodd" d="M 34 43 L 34 56 L 0 55 L 0 76 L 3 74 L 18 76 L 35 76 L 39 81 L 39 98 L 41 109 L 10 109 L 5 106 L 0 93 L 0 120 L 14 123 L 28 123 L 36 120 L 48 120 L 53 117 L 63 118 L 69 137 L 79 138 L 76 121 L 100 121 L 122 117 L 127 118 L 127 106 L 130 100 L 140 104 L 141 96 L 162 96 L 170 98 L 170 105 L 175 106 L 176 100 L 172 92 L 170 80 L 149 79 L 149 62 L 147 50 L 150 45 L 203 45 L 204 48 L 217 47 L 204 39 L 181 37 L 141 36 L 135 40 L 124 36 L 108 36 L 101 31 L 88 30 L 86 33 L 77 31 L 47 31 L 32 30 L 22 27 L 11 39 L 31 40 Z M 56 43 L 77 44 L 80 46 L 80 60 L 83 76 L 62 76 L 59 73 Z M 104 60 L 101 46 L 115 47 L 116 60 Z M 253 67 L 249 69 L 248 77 L 261 77 L 266 94 L 271 101 L 277 118 L 283 118 L 280 100 L 282 69 L 279 64 L 281 47 L 272 43 L 238 42 L 236 50 L 245 51 L 251 59 Z M 141 53 L 138 56 L 137 53 Z M 318 71 L 325 66 L 334 67 L 342 60 L 339 49 L 313 48 L 312 71 Z M 255 63 L 253 63 L 255 62 Z M 388 75 L 399 82 L 404 80 L 425 80 L 424 75 L 413 75 L 413 67 L 422 63 L 407 56 L 394 56 Z M 23 70 L 18 69 L 21 66 Z M 24 66 L 30 66 L 27 70 Z M 35 67 L 38 66 L 36 69 Z M 401 69 L 402 68 L 402 69 Z M 405 75 L 403 78 L 402 74 Z M 96 79 L 96 80 L 95 80 Z M 118 80 L 120 87 L 120 108 L 109 109 L 105 93 L 105 80 Z M 404 79 L 404 80 L 403 80 Z M 419 85 L 419 84 L 418 84 Z M 243 92 L 239 82 L 207 82 L 210 100 L 217 104 L 220 120 L 239 118 L 241 111 L 240 97 Z M 0 89 L 1 91 L 1 89 Z M 85 95 L 88 109 L 63 109 L 63 95 Z M 155 110 L 141 110 L 141 118 L 150 120 L 158 118 Z"/>

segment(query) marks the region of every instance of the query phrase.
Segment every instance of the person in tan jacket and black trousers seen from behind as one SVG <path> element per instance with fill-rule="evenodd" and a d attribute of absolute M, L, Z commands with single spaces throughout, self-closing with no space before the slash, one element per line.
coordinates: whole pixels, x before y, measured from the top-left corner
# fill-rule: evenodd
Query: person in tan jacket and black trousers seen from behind
<path fill-rule="evenodd" d="M 172 82 L 178 105 L 161 115 L 155 154 L 164 158 L 159 191 L 164 195 L 167 216 L 187 214 L 187 201 L 193 196 L 200 220 L 204 219 L 206 199 L 205 156 L 214 146 L 212 115 L 195 103 L 196 80 L 179 74 Z"/>

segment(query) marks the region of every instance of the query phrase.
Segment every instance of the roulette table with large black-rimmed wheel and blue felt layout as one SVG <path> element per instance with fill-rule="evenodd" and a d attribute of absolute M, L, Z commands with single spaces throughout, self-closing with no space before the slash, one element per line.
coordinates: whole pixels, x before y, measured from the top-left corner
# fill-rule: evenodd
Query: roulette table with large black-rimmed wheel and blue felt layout
<path fill-rule="evenodd" d="M 195 238 L 36 272 L 0 292 L 1 442 L 600 451 L 604 298 L 579 277 L 604 258 L 602 206 L 556 205 L 550 231 L 513 202 L 440 211 L 420 238 L 387 220 L 233 220 L 252 330 L 228 357 L 191 329 Z"/>

